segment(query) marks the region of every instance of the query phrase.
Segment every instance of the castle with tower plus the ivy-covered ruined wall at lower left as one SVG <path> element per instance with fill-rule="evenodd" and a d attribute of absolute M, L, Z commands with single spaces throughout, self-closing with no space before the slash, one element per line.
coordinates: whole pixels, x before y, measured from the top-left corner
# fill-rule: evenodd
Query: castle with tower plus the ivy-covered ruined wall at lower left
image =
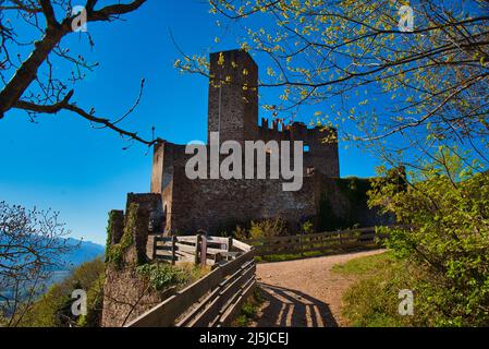
<path fill-rule="evenodd" d="M 148 289 L 134 268 L 159 261 L 156 252 L 161 248 L 158 241 L 163 234 L 195 236 L 203 230 L 210 236 L 229 234 L 237 225 L 246 227 L 252 220 L 273 218 L 286 220 L 291 233 L 299 232 L 306 221 L 313 222 L 317 231 L 386 222 L 384 217 L 366 205 L 369 180 L 340 178 L 338 142 L 323 142 L 325 130 L 309 129 L 298 122 L 289 127 L 273 122 L 270 128 L 267 120 L 261 120 L 261 125 L 258 124 L 258 67 L 248 53 L 239 50 L 212 53 L 210 76 L 209 139 L 211 132 L 218 132 L 220 142 L 236 141 L 240 145 L 259 140 L 302 141 L 306 148 L 303 186 L 298 191 L 284 191 L 283 179 L 267 176 L 191 180 L 185 167 L 193 155 L 186 154 L 186 146 L 157 144 L 151 193 L 130 193 L 125 212 L 109 214 L 106 257 L 110 263 L 103 286 L 102 326 L 121 326 L 169 297 L 168 292 Z M 335 135 L 337 131 L 326 132 Z M 205 151 L 209 151 L 209 144 L 210 141 Z M 271 156 L 266 155 L 266 163 Z M 176 241 L 176 237 L 171 241 Z M 175 251 L 173 246 L 171 251 Z"/>

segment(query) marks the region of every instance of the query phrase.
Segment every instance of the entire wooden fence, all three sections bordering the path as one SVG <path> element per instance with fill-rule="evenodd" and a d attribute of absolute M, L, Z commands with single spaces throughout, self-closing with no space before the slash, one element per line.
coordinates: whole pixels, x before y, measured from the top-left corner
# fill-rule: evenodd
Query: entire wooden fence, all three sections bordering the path
<path fill-rule="evenodd" d="M 212 265 L 204 278 L 178 291 L 126 327 L 229 326 L 256 286 L 255 256 L 303 254 L 375 245 L 375 228 L 248 240 L 219 237 L 156 237 L 154 257 Z"/>

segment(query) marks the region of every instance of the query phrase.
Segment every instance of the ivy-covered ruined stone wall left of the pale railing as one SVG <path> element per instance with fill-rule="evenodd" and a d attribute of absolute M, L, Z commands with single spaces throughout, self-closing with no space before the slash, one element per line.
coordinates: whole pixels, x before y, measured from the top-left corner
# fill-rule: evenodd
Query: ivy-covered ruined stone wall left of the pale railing
<path fill-rule="evenodd" d="M 107 249 L 103 285 L 102 327 L 120 327 L 150 310 L 167 297 L 156 292 L 142 278 L 137 266 L 150 261 L 151 213 L 160 206 L 160 195 L 129 194 L 124 213 L 110 213 L 110 239 Z M 123 224 L 122 224 L 123 221 Z"/>

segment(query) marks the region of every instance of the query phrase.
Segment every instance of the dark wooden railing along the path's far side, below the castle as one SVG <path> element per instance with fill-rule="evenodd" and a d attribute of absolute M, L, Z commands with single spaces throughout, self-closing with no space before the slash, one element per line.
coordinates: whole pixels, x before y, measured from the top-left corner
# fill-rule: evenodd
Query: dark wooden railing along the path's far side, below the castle
<path fill-rule="evenodd" d="M 374 246 L 386 234 L 376 233 L 376 228 L 351 229 L 334 232 L 302 236 L 272 237 L 246 240 L 255 248 L 256 256 L 274 254 L 304 254 L 308 252 L 335 252 L 360 246 Z"/>

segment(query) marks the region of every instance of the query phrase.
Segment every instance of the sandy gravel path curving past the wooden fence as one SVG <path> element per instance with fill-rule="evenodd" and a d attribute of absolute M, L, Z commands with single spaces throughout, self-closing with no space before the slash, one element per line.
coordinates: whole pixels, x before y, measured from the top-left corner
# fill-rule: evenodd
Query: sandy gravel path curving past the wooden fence
<path fill-rule="evenodd" d="M 257 265 L 265 302 L 252 327 L 337 327 L 341 298 L 355 277 L 332 273 L 335 264 L 383 253 L 383 250 Z"/>

